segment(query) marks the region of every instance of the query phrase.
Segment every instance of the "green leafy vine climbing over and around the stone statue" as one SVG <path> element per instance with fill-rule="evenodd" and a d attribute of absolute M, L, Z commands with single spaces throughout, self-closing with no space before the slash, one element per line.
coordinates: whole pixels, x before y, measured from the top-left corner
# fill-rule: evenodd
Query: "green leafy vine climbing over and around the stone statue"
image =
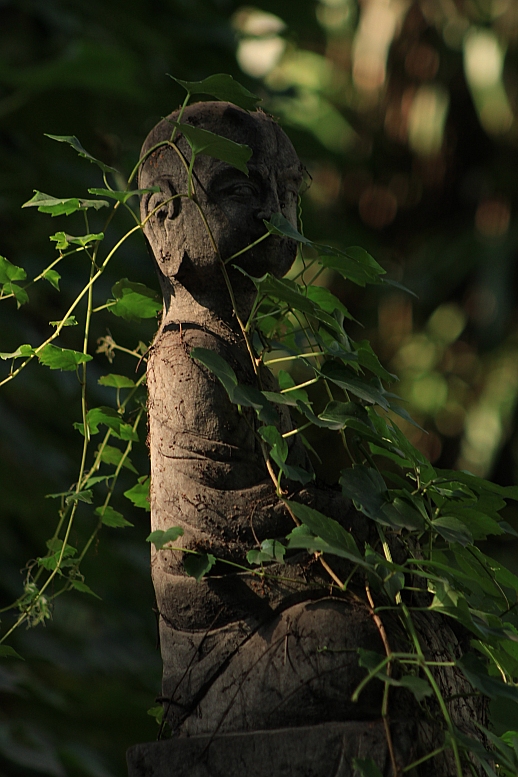
<path fill-rule="evenodd" d="M 191 97 L 200 94 L 229 100 L 247 110 L 253 109 L 257 102 L 254 95 L 230 76 L 211 76 L 200 82 L 175 80 L 186 90 L 182 112 Z M 231 402 L 238 408 L 250 407 L 256 411 L 258 427 L 255 433 L 268 472 L 279 499 L 294 520 L 294 528 L 285 540 L 268 539 L 258 543 L 249 550 L 249 566 L 233 563 L 231 566 L 267 576 L 269 565 L 282 563 L 287 551 L 304 549 L 314 554 L 329 572 L 331 586 L 344 591 L 348 590 L 353 577 L 362 581 L 385 655 L 358 650 L 358 659 L 366 675 L 353 700 L 358 699 L 363 688 L 374 678 L 383 683 L 381 716 L 394 775 L 410 772 L 449 748 L 453 753 L 456 777 L 462 777 L 466 768 L 475 773 L 475 764 L 487 775 L 512 777 L 518 773 L 518 732 L 508 731 L 498 737 L 484 729 L 484 736 L 491 743 L 491 750 L 486 750 L 479 740 L 456 730 L 450 715 L 451 700 L 444 697 L 436 670 L 457 668 L 471 684 L 472 694 L 518 701 L 518 577 L 485 555 L 477 545 L 489 535 L 516 534 L 500 513 L 506 499 L 518 500 L 518 487 L 498 486 L 469 472 L 434 468 L 400 430 L 398 418 L 413 421 L 399 404 L 398 397 L 387 388 L 396 377 L 381 365 L 367 341 L 351 339 L 345 326 L 352 319 L 351 314 L 330 290 L 314 283 L 325 269 L 332 269 L 348 283 L 361 287 L 391 283 L 384 277 L 383 268 L 365 250 L 359 247 L 342 250 L 313 242 L 281 214 L 275 214 L 264 222 L 265 232 L 259 240 L 231 257 L 219 256 L 197 200 L 193 175 L 195 160 L 200 154 L 208 154 L 246 173 L 251 150 L 206 130 L 182 124 L 182 112 L 171 127 L 170 139 L 157 144 L 148 153 L 160 145 L 168 145 L 179 155 L 188 184 L 187 191 L 174 196 L 191 199 L 197 205 L 218 255 L 236 316 L 228 266 L 271 235 L 287 237 L 298 244 L 298 269 L 291 279 L 248 276 L 255 285 L 256 298 L 249 318 L 246 321 L 238 318 L 238 323 L 257 385 L 240 385 L 230 365 L 214 352 L 202 348 L 191 352 L 192 358 L 216 375 Z M 175 142 L 180 134 L 191 149 L 189 159 Z M 0 301 L 14 302 L 20 308 L 28 303 L 31 287 L 42 280 L 59 290 L 61 276 L 56 268 L 64 272 L 62 268 L 72 255 L 86 257 L 87 277 L 81 291 L 64 305 L 63 317 L 50 322 L 53 330 L 42 343 L 25 343 L 12 353 L 0 354 L 8 364 L 0 386 L 19 379 L 25 367 L 34 360 L 52 370 L 74 371 L 79 384 L 80 406 L 80 421 L 75 427 L 82 436 L 82 447 L 75 482 L 66 492 L 49 495 L 59 499 L 56 528 L 47 541 L 46 552 L 27 566 L 21 595 L 5 608 L 16 616 L 0 639 L 0 656 L 17 655 L 5 640 L 22 624 L 36 626 L 48 619 L 56 597 L 72 589 L 96 595 L 84 579 L 81 563 L 103 527 L 130 525 L 111 506 L 122 468 L 137 475 L 135 485 L 125 491 L 125 496 L 135 506 L 149 509 L 149 478 L 145 474 L 139 476 L 130 460 L 132 447 L 139 441 L 138 430 L 145 413 L 142 390 L 145 376 L 142 374 L 136 380 L 111 372 L 102 376 L 99 383 L 115 391 L 111 407 L 89 406 L 88 381 L 89 362 L 93 359 L 90 341 L 94 316 L 108 312 L 129 321 L 139 321 L 154 318 L 161 309 L 154 291 L 128 279 L 113 285 L 110 299 L 97 298 L 98 281 L 114 255 L 145 225 L 131 207 L 130 200 L 157 191 L 157 188 L 131 188 L 143 160 L 133 169 L 126 188 L 115 189 L 110 186 L 109 176 L 116 171 L 92 157 L 77 138 L 52 135 L 49 138 L 71 146 L 81 157 L 97 165 L 104 186 L 88 190 L 94 199 L 56 198 L 39 191 L 34 193 L 23 207 L 36 207 L 52 216 L 81 212 L 86 231 L 81 236 L 64 231 L 52 235 L 50 239 L 56 243 L 58 257 L 32 280 L 27 279 L 23 268 L 0 257 Z M 163 205 L 160 203 L 157 207 Z M 109 210 L 102 230 L 90 232 L 89 213 L 104 212 L 105 208 Z M 129 211 L 134 226 L 113 247 L 105 249 L 105 235 L 121 209 Z M 241 272 L 244 271 L 241 269 Z M 80 313 L 83 326 L 77 350 L 55 344 L 65 327 L 78 325 Z M 147 347 L 141 342 L 134 347 L 120 345 L 107 335 L 97 343 L 96 352 L 104 354 L 110 364 L 117 351 L 132 355 L 140 364 L 146 361 Z M 296 365 L 299 382 L 295 382 L 287 369 L 280 369 L 277 375 L 279 390 L 263 390 L 258 371 L 261 362 L 275 369 Z M 323 408 L 308 392 L 310 387 L 319 385 L 327 397 Z M 296 420 L 295 430 L 281 435 L 276 425 L 276 406 L 290 408 Z M 105 429 L 104 436 L 93 451 L 92 440 L 100 433 L 100 427 Z M 289 498 L 285 490 L 289 482 L 303 486 L 314 479 L 314 474 L 309 469 L 289 464 L 287 437 L 297 434 L 311 449 L 304 432 L 315 427 L 340 436 L 350 460 L 350 466 L 341 473 L 340 486 L 344 496 L 373 522 L 379 538 L 376 544 L 360 548 L 339 523 Z M 82 547 L 76 547 L 71 541 L 79 509 L 89 510 L 94 519 L 92 531 Z M 178 527 L 156 531 L 149 535 L 148 541 L 157 549 L 175 549 L 174 542 L 181 531 Z M 405 546 L 403 561 L 397 562 L 393 558 L 391 547 L 395 538 Z M 346 580 L 341 580 L 333 571 L 332 560 L 336 556 L 351 563 L 351 573 Z M 216 560 L 211 554 L 188 552 L 184 562 L 186 572 L 201 579 Z M 350 595 L 355 594 L 351 592 Z M 410 650 L 392 649 L 384 630 L 384 612 L 390 612 L 402 624 Z M 416 626 L 416 617 L 422 612 L 437 613 L 457 621 L 471 636 L 471 650 L 461 658 L 427 658 Z M 389 692 L 394 686 L 407 689 L 423 707 L 435 699 L 444 729 L 440 746 L 399 772 L 389 726 Z M 162 710 L 151 712 L 160 717 Z M 370 759 L 356 759 L 354 766 L 363 777 L 380 775 Z"/>

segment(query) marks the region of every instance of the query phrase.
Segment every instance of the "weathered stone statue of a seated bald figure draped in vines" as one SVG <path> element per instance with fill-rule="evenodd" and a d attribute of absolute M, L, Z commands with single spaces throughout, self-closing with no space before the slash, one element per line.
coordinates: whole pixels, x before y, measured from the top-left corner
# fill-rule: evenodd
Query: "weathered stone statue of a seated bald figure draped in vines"
<path fill-rule="evenodd" d="M 294 528 L 293 518 L 276 495 L 254 434 L 255 412 L 238 412 L 190 352 L 210 349 L 231 365 L 240 383 L 275 390 L 273 376 L 254 362 L 240 326 L 250 313 L 254 287 L 234 264 L 256 277 L 267 272 L 281 277 L 295 258 L 295 243 L 270 236 L 226 264 L 226 278 L 222 265 L 265 233 L 263 219 L 272 214 L 282 213 L 296 226 L 302 167 L 287 136 L 266 114 L 223 102 L 194 104 L 182 122 L 247 144 L 253 155 L 248 176 L 198 156 L 195 195 L 189 199 L 190 148 L 178 130 L 176 150 L 168 142 L 178 115 L 172 113 L 149 134 L 139 176 L 141 188 L 160 187 L 141 203 L 164 296 L 147 376 L 152 529 L 180 526 L 184 534 L 175 546 L 246 565 L 246 553 L 263 539 L 284 537 Z M 287 412 L 279 409 L 279 418 L 281 433 L 293 428 Z M 295 440 L 289 461 L 307 466 L 297 437 L 288 439 Z M 368 539 L 366 519 L 339 492 L 291 487 L 290 499 L 335 518 L 360 545 Z M 428 733 L 423 735 L 421 727 L 420 738 L 416 735 L 410 694 L 391 697 L 392 752 L 388 724 L 380 718 L 383 684 L 369 683 L 359 700 L 351 701 L 365 676 L 357 648 L 385 654 L 364 591 L 331 590 L 328 573 L 306 553 L 269 568 L 264 579 L 218 562 L 200 582 L 185 574 L 182 556 L 153 547 L 164 664 L 161 701 L 175 738 L 138 746 L 151 748 L 145 753 L 133 748 L 132 776 L 234 777 L 248 771 L 263 777 L 346 777 L 357 774 L 354 756 L 369 756 L 388 777 L 395 764 L 399 768 L 433 749 L 434 723 L 425 722 Z M 345 562 L 332 559 L 332 565 L 345 579 Z M 404 637 L 395 623 L 387 619 L 386 624 L 394 649 Z M 432 631 L 438 642 L 434 655 L 445 654 L 442 632 Z M 447 637 L 458 644 L 453 632 Z M 424 741 L 427 736 L 430 742 Z M 316 743 L 324 741 L 328 746 L 317 755 Z M 453 773 L 448 758 L 438 760 L 415 774 Z"/>

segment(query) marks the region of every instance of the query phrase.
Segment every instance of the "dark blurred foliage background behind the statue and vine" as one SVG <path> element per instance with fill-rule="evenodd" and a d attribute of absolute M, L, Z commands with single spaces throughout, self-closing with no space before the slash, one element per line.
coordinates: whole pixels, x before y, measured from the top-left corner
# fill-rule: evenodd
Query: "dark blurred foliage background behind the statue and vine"
<path fill-rule="evenodd" d="M 55 256 L 48 216 L 20 205 L 34 188 L 65 197 L 100 185 L 93 166 L 43 133 L 75 134 L 127 174 L 150 127 L 183 98 L 166 73 L 231 73 L 282 117 L 304 159 L 308 234 L 364 246 L 418 295 L 351 298 L 321 276 L 365 323 L 353 336 L 369 337 L 400 375 L 428 434 L 405 432 L 440 465 L 516 482 L 517 37 L 512 0 L 3 0 L 0 251 L 29 275 L 41 271 Z M 142 241 L 113 272 L 111 283 L 124 275 L 156 287 Z M 50 284 L 34 289 L 23 315 L 6 302 L 2 350 L 40 341 L 59 304 Z M 127 329 L 117 320 L 110 331 Z M 148 342 L 153 324 L 131 331 Z M 78 451 L 70 376 L 27 374 L 0 394 L 5 605 L 53 531 L 55 503 L 44 496 L 69 488 Z M 135 461 L 146 470 L 144 451 Z M 338 471 L 338 454 L 334 462 Z M 6 775 L 123 775 L 125 748 L 154 736 L 148 529 L 138 511 L 124 514 L 134 528 L 103 530 L 85 570 L 102 602 L 57 600 L 45 629 L 17 635 L 27 661 L 2 662 Z"/>

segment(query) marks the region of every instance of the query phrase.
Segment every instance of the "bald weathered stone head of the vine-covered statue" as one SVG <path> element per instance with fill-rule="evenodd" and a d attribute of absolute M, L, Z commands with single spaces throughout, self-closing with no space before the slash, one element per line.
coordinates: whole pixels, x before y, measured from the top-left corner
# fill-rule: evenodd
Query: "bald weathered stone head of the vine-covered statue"
<path fill-rule="evenodd" d="M 182 123 L 246 144 L 252 156 L 247 176 L 226 162 L 198 155 L 192 178 L 195 200 L 189 199 L 191 149 L 179 131 L 174 138 L 177 149 L 168 143 L 179 113 L 160 121 L 142 147 L 139 187 L 160 187 L 142 197 L 142 220 L 153 213 L 144 233 L 157 264 L 166 315 L 174 309 L 172 298 L 185 291 L 203 307 L 221 313 L 229 304 L 222 262 L 264 235 L 263 219 L 274 213 L 296 226 L 302 165 L 288 137 L 266 114 L 225 102 L 196 103 L 185 109 Z M 156 144 L 163 145 L 148 154 Z M 272 235 L 226 265 L 243 310 L 252 286 L 233 265 L 255 277 L 267 272 L 281 277 L 295 255 L 294 241 Z"/>

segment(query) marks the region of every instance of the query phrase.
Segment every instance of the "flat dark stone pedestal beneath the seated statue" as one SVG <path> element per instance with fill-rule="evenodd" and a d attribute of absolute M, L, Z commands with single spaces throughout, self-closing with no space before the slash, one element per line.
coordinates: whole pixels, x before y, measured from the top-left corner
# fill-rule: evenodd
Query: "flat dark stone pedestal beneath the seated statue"
<path fill-rule="evenodd" d="M 411 763 L 415 724 L 396 721 L 391 730 L 396 760 Z M 127 753 L 129 777 L 359 777 L 353 758 L 372 758 L 384 777 L 392 774 L 382 721 L 178 737 Z"/>

